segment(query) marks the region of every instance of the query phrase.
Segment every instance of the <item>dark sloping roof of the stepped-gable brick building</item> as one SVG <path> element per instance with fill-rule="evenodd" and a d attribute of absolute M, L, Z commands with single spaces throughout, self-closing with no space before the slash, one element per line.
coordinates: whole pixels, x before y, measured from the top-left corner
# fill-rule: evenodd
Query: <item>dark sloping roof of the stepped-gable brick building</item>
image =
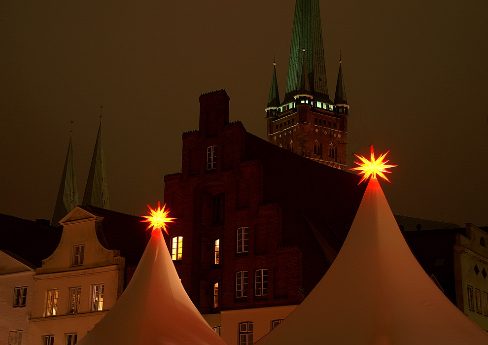
<path fill-rule="evenodd" d="M 316 163 L 250 133 L 245 134 L 245 159 L 263 166 L 263 204 L 282 211 L 282 245 L 302 251 L 303 284 L 308 293 L 325 273 L 328 260 L 311 229 L 339 252 L 361 202 L 366 184 L 359 176 Z"/>

